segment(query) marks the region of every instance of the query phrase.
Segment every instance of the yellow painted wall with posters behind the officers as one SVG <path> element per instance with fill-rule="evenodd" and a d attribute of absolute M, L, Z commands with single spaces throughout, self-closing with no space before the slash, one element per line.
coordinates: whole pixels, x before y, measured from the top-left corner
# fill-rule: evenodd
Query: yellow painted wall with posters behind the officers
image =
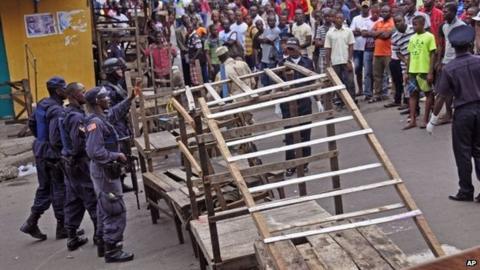
<path fill-rule="evenodd" d="M 0 0 L 10 79 L 16 81 L 27 77 L 25 44 L 28 44 L 37 58 L 39 100 L 48 95 L 45 83 L 53 75 L 63 76 L 67 83 L 82 82 L 87 89 L 95 84 L 91 14 L 87 2 L 90 1 L 40 0 L 38 13 L 53 13 L 57 24 L 57 11 L 73 11 L 73 27 L 63 34 L 27 38 L 24 15 L 34 13 L 33 0 Z M 30 85 L 34 92 L 33 79 Z"/>

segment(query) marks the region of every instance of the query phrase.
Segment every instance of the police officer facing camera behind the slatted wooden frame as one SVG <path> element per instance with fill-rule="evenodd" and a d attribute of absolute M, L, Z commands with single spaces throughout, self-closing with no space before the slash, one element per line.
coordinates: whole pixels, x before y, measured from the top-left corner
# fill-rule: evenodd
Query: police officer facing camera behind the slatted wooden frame
<path fill-rule="evenodd" d="M 282 60 L 279 65 L 284 65 L 285 62 L 291 62 L 295 63 L 297 65 L 300 65 L 302 67 L 305 67 L 309 70 L 314 70 L 313 67 L 313 61 L 310 60 L 308 57 L 302 56 L 301 50 L 300 50 L 300 42 L 298 41 L 297 38 L 289 38 L 287 40 L 287 44 L 285 46 L 285 49 L 287 51 L 288 57 L 284 60 Z M 300 74 L 297 71 L 293 72 L 293 79 L 299 79 L 305 77 L 304 75 Z M 296 87 L 300 87 L 300 85 L 296 85 Z M 293 116 L 301 116 L 301 115 L 307 115 L 312 113 L 312 100 L 310 98 L 302 98 L 297 101 L 292 101 L 296 102 L 296 112 L 291 112 L 290 111 L 290 104 L 289 103 L 282 103 L 280 104 L 280 109 L 282 110 L 282 118 L 290 118 Z M 300 140 L 302 142 L 310 141 L 310 134 L 311 130 L 310 129 L 305 129 L 300 131 Z M 293 144 L 294 143 L 294 135 L 291 134 L 286 134 L 285 135 L 285 143 L 287 145 Z M 311 154 L 311 148 L 309 146 L 303 147 L 302 148 L 302 154 L 304 157 L 310 156 Z M 286 151 L 286 160 L 290 159 L 295 159 L 299 157 L 295 157 L 295 150 L 288 150 Z M 292 176 L 295 173 L 295 168 L 289 168 L 286 171 L 286 176 Z M 308 172 L 308 164 L 304 165 L 304 172 Z"/>

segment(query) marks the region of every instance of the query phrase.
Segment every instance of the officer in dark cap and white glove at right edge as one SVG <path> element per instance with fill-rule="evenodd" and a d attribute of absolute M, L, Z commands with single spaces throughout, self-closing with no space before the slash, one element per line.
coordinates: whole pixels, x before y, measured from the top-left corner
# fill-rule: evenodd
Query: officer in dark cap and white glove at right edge
<path fill-rule="evenodd" d="M 439 79 L 438 98 L 427 131 L 433 132 L 445 98 L 454 97 L 452 141 L 460 190 L 449 198 L 473 201 L 472 157 L 480 179 L 480 58 L 470 53 L 475 39 L 475 30 L 471 26 L 453 28 L 448 39 L 455 48 L 456 57 L 445 65 Z M 475 200 L 480 202 L 480 195 Z"/>

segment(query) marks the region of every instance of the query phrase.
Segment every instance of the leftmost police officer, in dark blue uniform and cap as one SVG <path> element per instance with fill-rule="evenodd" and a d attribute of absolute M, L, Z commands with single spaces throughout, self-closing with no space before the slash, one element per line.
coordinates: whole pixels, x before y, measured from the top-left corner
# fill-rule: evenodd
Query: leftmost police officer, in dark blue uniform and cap
<path fill-rule="evenodd" d="M 55 76 L 48 80 L 49 97 L 38 102 L 35 112 L 28 121 L 29 128 L 35 136 L 33 154 L 37 165 L 38 188 L 31 214 L 20 227 L 20 231 L 40 240 L 47 239 L 47 236 L 38 228 L 38 220 L 50 204 L 57 219 L 56 238 L 67 237 L 63 212 L 65 184 L 60 165 L 62 142 L 58 130 L 58 119 L 64 114 L 65 87 L 66 83 L 62 77 Z"/>

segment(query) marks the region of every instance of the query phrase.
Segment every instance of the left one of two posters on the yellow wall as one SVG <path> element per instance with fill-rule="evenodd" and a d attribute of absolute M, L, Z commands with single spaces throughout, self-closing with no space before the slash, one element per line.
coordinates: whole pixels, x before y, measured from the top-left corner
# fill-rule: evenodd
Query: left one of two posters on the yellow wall
<path fill-rule="evenodd" d="M 52 13 L 25 15 L 25 31 L 28 38 L 56 35 L 54 15 Z"/>

